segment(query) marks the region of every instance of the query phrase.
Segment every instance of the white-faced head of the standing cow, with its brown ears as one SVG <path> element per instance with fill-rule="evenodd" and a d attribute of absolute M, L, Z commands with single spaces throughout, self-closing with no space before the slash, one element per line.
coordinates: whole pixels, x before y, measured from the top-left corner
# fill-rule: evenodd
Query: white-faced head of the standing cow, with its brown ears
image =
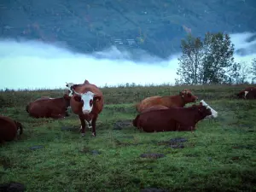
<path fill-rule="evenodd" d="M 102 99 L 101 96 L 97 96 L 95 93 L 91 91 L 87 91 L 85 93 L 78 93 L 75 90 L 73 90 L 73 92 L 77 95 L 73 95 L 73 99 L 76 102 L 81 102 L 83 104 L 82 112 L 84 114 L 90 113 L 95 102 L 98 102 Z"/>

